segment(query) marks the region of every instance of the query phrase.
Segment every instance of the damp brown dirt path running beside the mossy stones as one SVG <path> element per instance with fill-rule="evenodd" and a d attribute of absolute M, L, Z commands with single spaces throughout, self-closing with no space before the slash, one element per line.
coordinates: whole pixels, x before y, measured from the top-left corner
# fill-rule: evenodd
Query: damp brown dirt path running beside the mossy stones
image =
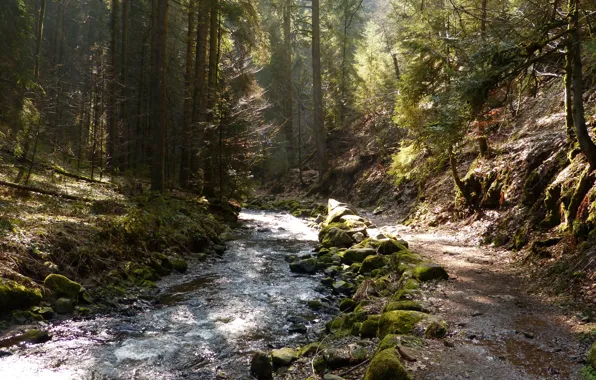
<path fill-rule="evenodd" d="M 572 317 L 528 294 L 508 253 L 478 247 L 457 233 L 384 227 L 440 263 L 451 278 L 430 292 L 447 321 L 445 341 L 430 341 L 413 363 L 417 379 L 579 379 L 585 348 Z"/>

